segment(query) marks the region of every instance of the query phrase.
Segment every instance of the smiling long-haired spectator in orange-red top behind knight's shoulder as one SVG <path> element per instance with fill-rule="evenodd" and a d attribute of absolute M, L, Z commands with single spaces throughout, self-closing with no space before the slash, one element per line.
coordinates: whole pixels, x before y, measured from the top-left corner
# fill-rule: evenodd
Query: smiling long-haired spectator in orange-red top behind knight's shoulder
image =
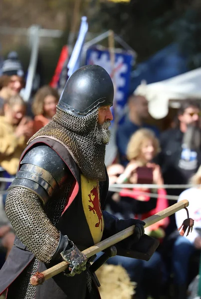
<path fill-rule="evenodd" d="M 46 85 L 35 94 L 32 110 L 35 115 L 33 121 L 33 133 L 47 125 L 56 113 L 56 105 L 59 100 L 57 91 Z"/>

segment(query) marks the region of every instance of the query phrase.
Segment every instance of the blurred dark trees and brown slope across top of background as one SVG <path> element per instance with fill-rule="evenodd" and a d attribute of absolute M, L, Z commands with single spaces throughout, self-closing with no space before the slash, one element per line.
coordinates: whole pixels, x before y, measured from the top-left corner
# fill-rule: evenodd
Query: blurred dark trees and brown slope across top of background
<path fill-rule="evenodd" d="M 53 42 L 54 46 L 57 44 L 59 55 L 72 27 L 75 1 L 0 0 L 0 26 L 27 28 L 36 23 L 43 28 L 63 29 L 63 39 Z M 189 66 L 201 66 L 201 0 L 131 0 L 130 3 L 81 0 L 78 14 L 78 20 L 81 15 L 87 15 L 92 33 L 113 29 L 135 49 L 138 61 L 177 42 L 188 56 Z M 0 38 L 6 51 L 16 39 L 15 36 Z M 45 43 L 45 40 L 41 41 L 43 48 Z M 18 40 L 18 44 L 21 45 L 21 41 Z M 107 40 L 104 45 L 108 45 Z"/>

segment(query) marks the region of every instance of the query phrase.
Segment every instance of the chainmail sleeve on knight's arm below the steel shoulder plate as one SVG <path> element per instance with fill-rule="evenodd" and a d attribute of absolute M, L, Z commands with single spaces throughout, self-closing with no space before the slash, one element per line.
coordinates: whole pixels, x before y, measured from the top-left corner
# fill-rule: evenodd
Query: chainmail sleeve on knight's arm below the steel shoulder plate
<path fill-rule="evenodd" d="M 16 235 L 38 260 L 49 263 L 59 243 L 59 231 L 45 214 L 37 195 L 22 187 L 8 190 L 7 217 Z"/>

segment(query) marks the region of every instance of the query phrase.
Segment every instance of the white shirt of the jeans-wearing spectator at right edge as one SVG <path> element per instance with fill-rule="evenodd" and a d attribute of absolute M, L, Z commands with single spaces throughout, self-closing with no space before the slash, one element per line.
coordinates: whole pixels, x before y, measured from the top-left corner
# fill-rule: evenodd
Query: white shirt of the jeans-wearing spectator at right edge
<path fill-rule="evenodd" d="M 187 231 L 185 233 L 185 238 L 187 238 L 191 243 L 194 243 L 195 239 L 198 236 L 201 236 L 201 233 L 196 230 L 196 228 L 201 229 L 201 189 L 198 188 L 190 188 L 182 192 L 179 196 L 178 202 L 187 199 L 189 201 L 189 217 L 194 219 L 194 227 L 192 233 L 187 237 Z M 176 224 L 179 228 L 183 221 L 187 219 L 187 211 L 182 209 L 175 213 Z"/>

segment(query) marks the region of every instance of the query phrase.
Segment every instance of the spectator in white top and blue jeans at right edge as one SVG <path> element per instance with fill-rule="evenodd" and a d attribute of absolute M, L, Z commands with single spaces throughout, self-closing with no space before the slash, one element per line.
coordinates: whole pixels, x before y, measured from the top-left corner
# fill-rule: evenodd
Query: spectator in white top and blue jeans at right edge
<path fill-rule="evenodd" d="M 189 236 L 179 236 L 174 244 L 172 261 L 174 273 L 174 285 L 176 286 L 177 299 L 186 299 L 189 260 L 191 255 L 197 250 L 201 250 L 201 166 L 197 173 L 192 178 L 192 183 L 199 185 L 187 189 L 181 193 L 178 201 L 183 199 L 189 200 L 189 214 L 194 219 L 194 227 Z M 183 209 L 176 213 L 176 223 L 179 228 L 184 219 L 187 218 L 187 213 Z"/>

